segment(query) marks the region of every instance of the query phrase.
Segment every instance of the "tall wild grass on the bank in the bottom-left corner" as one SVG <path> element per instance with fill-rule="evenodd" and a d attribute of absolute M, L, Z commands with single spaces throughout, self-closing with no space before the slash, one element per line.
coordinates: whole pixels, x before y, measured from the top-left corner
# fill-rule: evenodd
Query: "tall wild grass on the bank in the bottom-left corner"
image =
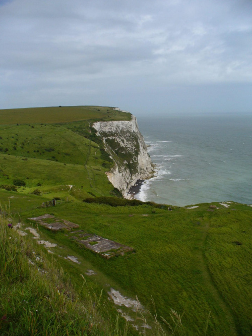
<path fill-rule="evenodd" d="M 99 312 L 101 296 L 76 293 L 55 260 L 0 217 L 1 335 L 122 335 Z M 95 302 L 95 304 L 94 304 Z"/>

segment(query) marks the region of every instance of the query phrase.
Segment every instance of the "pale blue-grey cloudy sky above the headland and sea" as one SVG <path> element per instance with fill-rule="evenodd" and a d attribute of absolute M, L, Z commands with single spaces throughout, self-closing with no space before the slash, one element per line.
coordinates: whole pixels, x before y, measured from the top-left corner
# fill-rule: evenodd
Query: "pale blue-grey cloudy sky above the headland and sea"
<path fill-rule="evenodd" d="M 251 0 L 0 0 L 0 108 L 252 114 Z"/>

